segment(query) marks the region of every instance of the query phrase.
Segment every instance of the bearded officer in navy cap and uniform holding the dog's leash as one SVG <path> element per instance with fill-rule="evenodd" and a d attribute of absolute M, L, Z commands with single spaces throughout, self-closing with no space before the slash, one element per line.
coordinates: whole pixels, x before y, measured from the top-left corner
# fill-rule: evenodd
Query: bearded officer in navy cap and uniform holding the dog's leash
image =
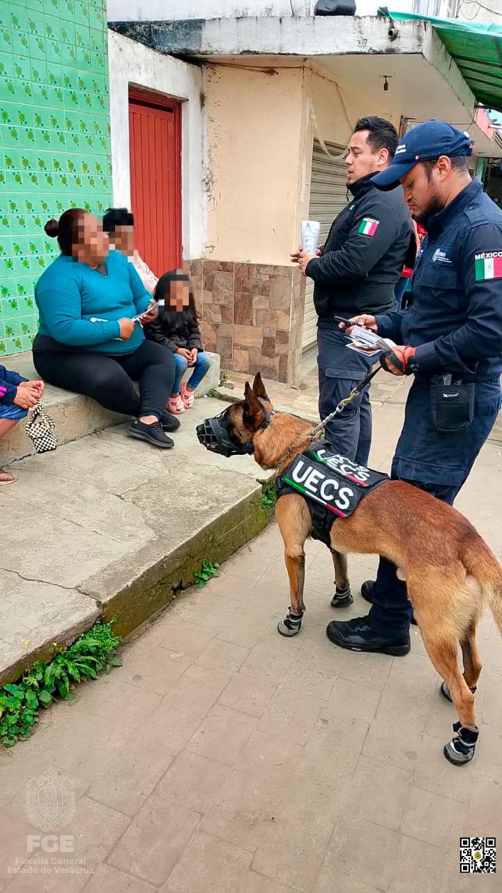
<path fill-rule="evenodd" d="M 405 201 L 428 236 L 412 281 L 413 306 L 362 314 L 356 321 L 397 344 L 395 375 L 413 372 L 392 477 L 453 505 L 497 418 L 502 371 L 502 212 L 471 179 L 471 140 L 443 121 L 419 124 L 402 139 L 392 164 L 373 182 L 401 183 Z M 482 501 L 482 493 L 479 495 Z M 406 530 L 403 530 L 406 537 Z M 364 583 L 370 613 L 331 622 L 335 645 L 406 655 L 412 607 L 396 566 L 381 558 Z"/>

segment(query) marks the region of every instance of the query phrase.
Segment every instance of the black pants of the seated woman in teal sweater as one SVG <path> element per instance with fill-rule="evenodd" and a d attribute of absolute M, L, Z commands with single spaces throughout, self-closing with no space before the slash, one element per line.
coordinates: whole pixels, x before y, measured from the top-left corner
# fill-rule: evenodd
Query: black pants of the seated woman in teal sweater
<path fill-rule="evenodd" d="M 160 419 L 174 382 L 172 351 L 155 341 L 143 341 L 132 354 L 109 356 L 37 335 L 33 363 L 40 378 L 56 388 L 92 396 L 105 409 L 135 417 Z"/>

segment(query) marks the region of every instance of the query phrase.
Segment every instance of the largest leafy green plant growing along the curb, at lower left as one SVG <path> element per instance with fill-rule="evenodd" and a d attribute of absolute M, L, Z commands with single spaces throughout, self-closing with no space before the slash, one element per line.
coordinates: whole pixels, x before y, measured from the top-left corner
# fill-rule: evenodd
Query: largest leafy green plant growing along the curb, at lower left
<path fill-rule="evenodd" d="M 113 633 L 113 622 L 97 621 L 70 647 L 60 648 L 48 663 L 37 661 L 21 680 L 0 688 L 0 741 L 4 747 L 29 738 L 40 707 L 49 707 L 57 697 L 71 700 L 76 683 L 97 679 L 100 672 L 121 666 L 115 654 L 120 638 Z"/>

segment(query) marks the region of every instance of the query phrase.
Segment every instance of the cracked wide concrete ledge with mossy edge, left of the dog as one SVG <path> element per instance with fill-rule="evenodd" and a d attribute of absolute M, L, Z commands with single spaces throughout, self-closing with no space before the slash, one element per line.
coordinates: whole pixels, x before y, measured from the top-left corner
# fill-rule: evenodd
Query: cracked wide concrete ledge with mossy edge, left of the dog
<path fill-rule="evenodd" d="M 19 480 L 0 492 L 0 684 L 99 616 L 137 633 L 204 559 L 225 561 L 263 530 L 264 472 L 197 443 L 197 422 L 219 411 L 197 400 L 169 452 L 113 426 L 13 463 Z"/>

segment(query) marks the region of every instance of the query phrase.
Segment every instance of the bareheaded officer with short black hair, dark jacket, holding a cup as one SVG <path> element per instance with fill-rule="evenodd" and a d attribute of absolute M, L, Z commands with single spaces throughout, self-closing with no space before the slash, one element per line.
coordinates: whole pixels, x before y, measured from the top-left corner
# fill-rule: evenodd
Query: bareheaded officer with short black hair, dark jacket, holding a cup
<path fill-rule="evenodd" d="M 415 240 L 410 214 L 397 184 L 382 193 L 372 177 L 390 163 L 397 130 L 383 118 L 361 118 L 350 138 L 347 188 L 352 201 L 339 213 L 318 256 L 291 255 L 314 280 L 318 315 L 319 413 L 325 418 L 371 369 L 371 360 L 347 350 L 334 314 L 386 313 L 396 304 L 394 288 L 403 266 L 413 266 Z M 326 425 L 325 436 L 340 455 L 366 465 L 372 440 L 369 388 Z"/>

